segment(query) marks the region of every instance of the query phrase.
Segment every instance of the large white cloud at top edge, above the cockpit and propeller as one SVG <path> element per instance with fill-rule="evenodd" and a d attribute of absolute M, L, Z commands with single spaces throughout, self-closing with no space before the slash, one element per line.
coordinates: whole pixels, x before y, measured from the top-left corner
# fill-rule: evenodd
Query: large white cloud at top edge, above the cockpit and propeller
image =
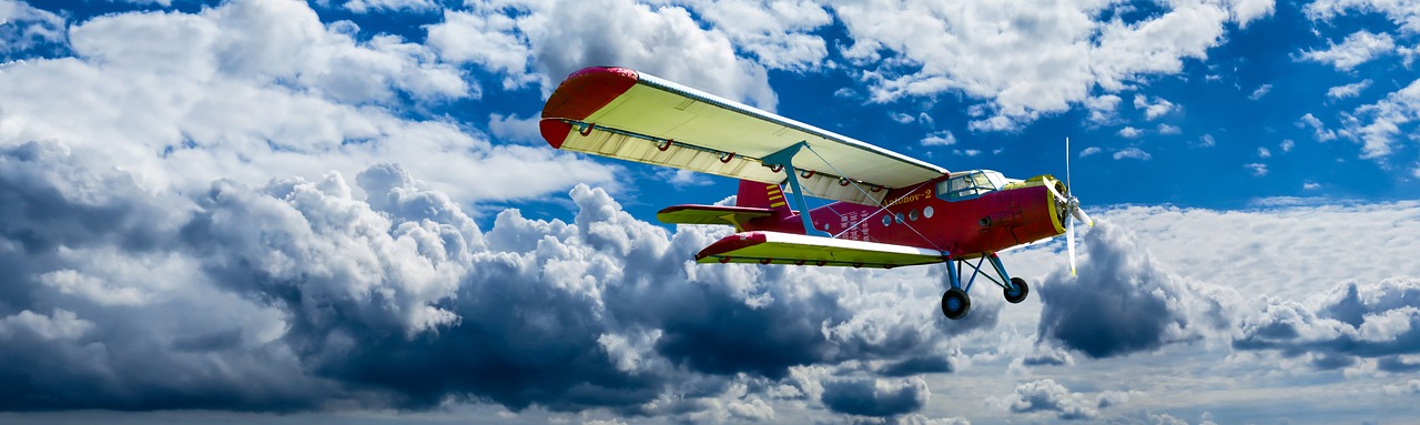
<path fill-rule="evenodd" d="M 1127 6 L 1098 1 L 858 0 L 834 11 L 853 37 L 845 57 L 870 68 L 863 78 L 875 101 L 960 91 L 993 111 L 971 128 L 1014 129 L 1098 97 L 1095 87 L 1118 92 L 1146 75 L 1179 72 L 1221 43 L 1227 23 L 1247 24 L 1271 4 L 1170 3 L 1132 23 L 1102 18 Z"/>

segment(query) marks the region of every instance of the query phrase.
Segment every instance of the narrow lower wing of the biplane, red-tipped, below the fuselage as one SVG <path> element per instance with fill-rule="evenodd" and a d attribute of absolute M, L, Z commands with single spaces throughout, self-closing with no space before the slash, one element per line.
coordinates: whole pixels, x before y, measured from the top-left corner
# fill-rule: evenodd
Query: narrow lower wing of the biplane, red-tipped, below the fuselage
<path fill-rule="evenodd" d="M 760 263 L 795 266 L 852 266 L 892 269 L 941 263 L 936 250 L 905 244 L 804 236 L 781 232 L 743 232 L 726 236 L 696 254 L 697 263 Z"/>

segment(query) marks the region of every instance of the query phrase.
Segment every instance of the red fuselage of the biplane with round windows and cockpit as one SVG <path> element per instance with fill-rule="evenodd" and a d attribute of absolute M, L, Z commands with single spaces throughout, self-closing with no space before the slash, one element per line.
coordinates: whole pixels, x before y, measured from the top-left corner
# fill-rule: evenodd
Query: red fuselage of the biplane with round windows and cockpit
<path fill-rule="evenodd" d="M 818 230 L 839 239 L 906 244 L 970 259 L 1065 233 L 1064 209 L 1047 185 L 1066 188 L 1044 175 L 1005 179 L 991 171 L 970 171 L 893 189 L 886 208 L 836 202 L 809 212 Z M 797 213 L 744 223 L 746 230 L 805 233 Z"/>

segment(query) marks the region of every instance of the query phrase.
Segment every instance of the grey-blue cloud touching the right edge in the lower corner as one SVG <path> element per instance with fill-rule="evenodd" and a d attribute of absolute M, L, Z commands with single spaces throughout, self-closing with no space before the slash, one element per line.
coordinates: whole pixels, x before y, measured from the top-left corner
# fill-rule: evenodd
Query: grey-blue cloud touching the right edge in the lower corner
<path fill-rule="evenodd" d="M 1392 277 L 1363 284 L 1345 281 L 1304 301 L 1264 298 L 1261 311 L 1238 324 L 1235 350 L 1306 357 L 1318 370 L 1336 370 L 1377 358 L 1389 372 L 1420 367 L 1404 355 L 1420 354 L 1420 279 Z"/>

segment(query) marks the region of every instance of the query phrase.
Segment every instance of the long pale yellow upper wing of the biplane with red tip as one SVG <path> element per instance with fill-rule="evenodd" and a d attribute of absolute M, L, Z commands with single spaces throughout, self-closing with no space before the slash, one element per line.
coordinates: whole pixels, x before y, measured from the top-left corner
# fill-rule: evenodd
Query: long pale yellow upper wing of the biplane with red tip
<path fill-rule="evenodd" d="M 888 190 L 947 169 L 794 119 L 626 68 L 584 68 L 542 108 L 554 148 L 728 178 L 781 183 L 761 158 L 807 142 L 794 156 L 805 195 L 879 205 Z M 848 182 L 853 181 L 865 190 Z"/>

